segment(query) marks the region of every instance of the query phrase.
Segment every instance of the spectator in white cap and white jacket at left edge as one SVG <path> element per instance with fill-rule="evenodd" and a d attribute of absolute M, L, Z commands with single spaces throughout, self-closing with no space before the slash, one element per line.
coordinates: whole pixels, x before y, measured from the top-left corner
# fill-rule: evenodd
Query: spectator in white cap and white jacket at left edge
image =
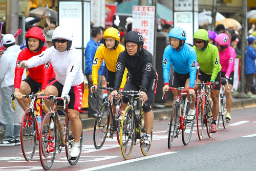
<path fill-rule="evenodd" d="M 7 50 L 0 58 L 0 122 L 3 123 L 5 135 L 0 146 L 20 145 L 20 121 L 23 109 L 16 103 L 16 111 L 12 109 L 11 94 L 14 92 L 14 71 L 18 57 L 19 46 L 15 45 L 12 34 L 3 37 L 3 45 Z M 23 72 L 22 78 L 26 78 Z"/>

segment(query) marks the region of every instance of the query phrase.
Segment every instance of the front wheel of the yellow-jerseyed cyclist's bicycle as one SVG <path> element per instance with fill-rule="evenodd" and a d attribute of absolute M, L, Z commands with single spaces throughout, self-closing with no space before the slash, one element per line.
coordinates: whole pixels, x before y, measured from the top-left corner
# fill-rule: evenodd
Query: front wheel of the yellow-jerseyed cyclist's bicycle
<path fill-rule="evenodd" d="M 100 149 L 105 142 L 109 128 L 109 112 L 109 103 L 103 103 L 98 111 L 93 130 L 93 143 L 96 149 Z"/>

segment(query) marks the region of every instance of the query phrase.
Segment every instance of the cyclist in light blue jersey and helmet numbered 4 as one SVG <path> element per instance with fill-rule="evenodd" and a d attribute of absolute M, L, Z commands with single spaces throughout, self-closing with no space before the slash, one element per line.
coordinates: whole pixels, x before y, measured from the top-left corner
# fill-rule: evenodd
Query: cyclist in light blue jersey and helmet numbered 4
<path fill-rule="evenodd" d="M 184 87 L 193 93 L 193 102 L 190 104 L 187 120 L 193 120 L 196 115 L 196 93 L 194 91 L 197 74 L 196 51 L 185 43 L 186 32 L 180 27 L 175 27 L 169 32 L 169 43 L 163 54 L 163 79 L 164 89 L 169 90 L 170 66 L 173 65 L 174 75 L 171 87 Z M 174 97 L 177 91 L 173 91 Z M 190 100 L 190 99 L 189 99 Z"/>

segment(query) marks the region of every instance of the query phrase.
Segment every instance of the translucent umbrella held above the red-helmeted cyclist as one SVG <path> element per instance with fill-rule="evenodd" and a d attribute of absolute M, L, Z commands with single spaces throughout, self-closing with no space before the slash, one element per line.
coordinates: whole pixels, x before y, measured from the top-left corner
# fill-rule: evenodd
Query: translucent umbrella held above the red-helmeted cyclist
<path fill-rule="evenodd" d="M 29 11 L 29 16 L 40 16 L 40 15 L 42 15 L 42 13 L 44 11 L 46 11 L 45 16 L 48 16 L 51 21 L 57 22 L 58 12 L 56 12 L 53 9 L 50 9 L 50 8 L 45 8 L 45 7 L 35 8 L 35 9 Z"/>

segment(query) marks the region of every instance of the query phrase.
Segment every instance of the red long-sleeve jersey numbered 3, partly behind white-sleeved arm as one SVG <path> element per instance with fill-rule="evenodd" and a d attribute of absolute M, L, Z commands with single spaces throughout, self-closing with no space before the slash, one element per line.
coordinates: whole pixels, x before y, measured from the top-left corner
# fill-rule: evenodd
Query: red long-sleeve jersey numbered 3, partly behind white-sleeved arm
<path fill-rule="evenodd" d="M 47 47 L 44 46 L 41 48 L 40 51 L 33 53 L 31 50 L 26 48 L 19 53 L 17 62 L 16 62 L 16 68 L 15 68 L 14 88 L 18 88 L 18 89 L 20 88 L 20 82 L 22 82 L 22 75 L 24 72 L 24 68 L 18 67 L 19 63 L 23 60 L 28 60 L 35 55 L 39 55 L 46 49 Z M 34 81 L 41 83 L 41 90 L 45 90 L 47 84 L 49 83 L 49 80 L 55 77 L 55 72 L 49 60 L 46 61 L 45 63 L 42 63 L 40 66 L 29 68 L 28 71 L 29 71 L 29 76 Z"/>

